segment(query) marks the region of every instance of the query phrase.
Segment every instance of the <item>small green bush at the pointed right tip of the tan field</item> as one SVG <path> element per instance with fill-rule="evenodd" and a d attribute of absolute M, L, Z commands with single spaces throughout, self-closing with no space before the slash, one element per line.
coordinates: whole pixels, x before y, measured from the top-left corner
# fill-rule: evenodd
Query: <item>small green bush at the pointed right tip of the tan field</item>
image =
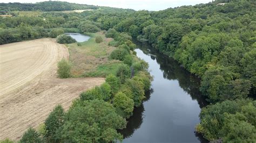
<path fill-rule="evenodd" d="M 106 77 L 106 83 L 109 83 L 111 87 L 111 94 L 114 95 L 118 91 L 120 87 L 120 81 L 119 78 L 114 76 L 113 74 L 110 74 Z"/>

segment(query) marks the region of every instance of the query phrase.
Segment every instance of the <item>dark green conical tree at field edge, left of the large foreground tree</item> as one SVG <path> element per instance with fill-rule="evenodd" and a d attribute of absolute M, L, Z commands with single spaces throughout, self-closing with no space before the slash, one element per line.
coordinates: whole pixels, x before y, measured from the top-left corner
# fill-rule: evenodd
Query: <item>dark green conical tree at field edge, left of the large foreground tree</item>
<path fill-rule="evenodd" d="M 59 128 L 64 124 L 64 109 L 61 105 L 57 105 L 50 115 L 46 118 L 45 124 L 45 137 L 50 142 L 56 142 L 59 140 Z"/>

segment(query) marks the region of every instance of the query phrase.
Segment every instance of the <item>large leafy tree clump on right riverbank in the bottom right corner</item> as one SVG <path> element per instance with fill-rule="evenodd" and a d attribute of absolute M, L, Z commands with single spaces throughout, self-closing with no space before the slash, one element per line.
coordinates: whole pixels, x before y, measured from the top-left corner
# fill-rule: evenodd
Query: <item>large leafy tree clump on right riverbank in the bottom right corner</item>
<path fill-rule="evenodd" d="M 256 133 L 255 109 L 255 104 L 245 99 L 208 105 L 199 115 L 197 131 L 210 141 L 222 138 L 224 142 L 251 142 Z"/>

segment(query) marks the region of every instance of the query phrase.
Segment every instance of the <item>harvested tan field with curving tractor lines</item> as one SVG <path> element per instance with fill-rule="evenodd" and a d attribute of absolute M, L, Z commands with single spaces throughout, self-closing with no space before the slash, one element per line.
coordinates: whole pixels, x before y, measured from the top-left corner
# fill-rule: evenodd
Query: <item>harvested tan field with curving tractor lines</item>
<path fill-rule="evenodd" d="M 57 78 L 57 61 L 68 57 L 68 49 L 54 39 L 0 45 L 0 140 L 18 140 L 26 128 L 42 123 L 54 106 L 67 109 L 81 91 L 104 82 Z"/>

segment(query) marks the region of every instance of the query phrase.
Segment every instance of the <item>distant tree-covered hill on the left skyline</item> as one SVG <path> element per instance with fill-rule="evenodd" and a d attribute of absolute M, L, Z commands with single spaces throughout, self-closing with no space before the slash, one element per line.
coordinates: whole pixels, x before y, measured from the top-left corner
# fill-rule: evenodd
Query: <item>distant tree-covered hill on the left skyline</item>
<path fill-rule="evenodd" d="M 68 2 L 39 2 L 39 3 L 0 3 L 2 11 L 64 11 L 98 9 L 95 5 L 76 4 Z"/>

